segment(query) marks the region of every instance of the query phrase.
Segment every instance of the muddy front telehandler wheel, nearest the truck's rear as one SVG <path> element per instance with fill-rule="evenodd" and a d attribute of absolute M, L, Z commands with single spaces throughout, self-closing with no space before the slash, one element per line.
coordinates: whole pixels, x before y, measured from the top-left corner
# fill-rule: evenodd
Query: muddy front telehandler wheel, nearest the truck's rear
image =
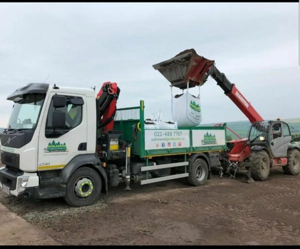
<path fill-rule="evenodd" d="M 249 158 L 249 170 L 257 181 L 265 181 L 270 174 L 270 158 L 266 151 L 252 152 Z"/>

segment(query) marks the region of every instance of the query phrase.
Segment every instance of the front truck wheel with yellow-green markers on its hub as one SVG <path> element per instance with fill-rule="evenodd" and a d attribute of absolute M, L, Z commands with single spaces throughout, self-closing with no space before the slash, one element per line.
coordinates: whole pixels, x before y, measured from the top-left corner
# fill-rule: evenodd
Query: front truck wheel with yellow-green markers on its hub
<path fill-rule="evenodd" d="M 82 167 L 69 177 L 64 199 L 73 207 L 89 206 L 99 198 L 101 188 L 99 174 L 91 168 Z"/>

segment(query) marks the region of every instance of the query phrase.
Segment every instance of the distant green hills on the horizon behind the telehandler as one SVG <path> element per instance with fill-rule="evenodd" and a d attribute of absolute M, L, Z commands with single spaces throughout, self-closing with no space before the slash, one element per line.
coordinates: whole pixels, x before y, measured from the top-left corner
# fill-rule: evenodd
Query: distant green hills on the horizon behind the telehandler
<path fill-rule="evenodd" d="M 300 119 L 282 119 L 288 123 L 291 129 L 291 133 L 300 133 Z M 220 122 L 221 123 L 221 122 Z M 225 122 L 224 122 L 225 123 Z M 227 126 L 241 137 L 247 137 L 248 130 L 250 128 L 249 121 L 238 121 L 238 122 L 226 122 Z M 214 126 L 214 124 L 203 124 L 199 126 Z M 230 135 L 232 139 L 237 138 L 234 134 L 227 130 L 227 135 Z"/>

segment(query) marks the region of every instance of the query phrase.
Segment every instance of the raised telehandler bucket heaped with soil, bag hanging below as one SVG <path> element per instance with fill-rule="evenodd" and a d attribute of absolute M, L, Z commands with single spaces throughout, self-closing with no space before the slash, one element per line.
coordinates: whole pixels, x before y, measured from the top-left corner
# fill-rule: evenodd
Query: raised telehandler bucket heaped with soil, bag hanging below
<path fill-rule="evenodd" d="M 170 83 L 180 89 L 203 85 L 205 73 L 214 65 L 214 61 L 197 55 L 195 49 L 187 49 L 175 57 L 153 65 Z"/>

